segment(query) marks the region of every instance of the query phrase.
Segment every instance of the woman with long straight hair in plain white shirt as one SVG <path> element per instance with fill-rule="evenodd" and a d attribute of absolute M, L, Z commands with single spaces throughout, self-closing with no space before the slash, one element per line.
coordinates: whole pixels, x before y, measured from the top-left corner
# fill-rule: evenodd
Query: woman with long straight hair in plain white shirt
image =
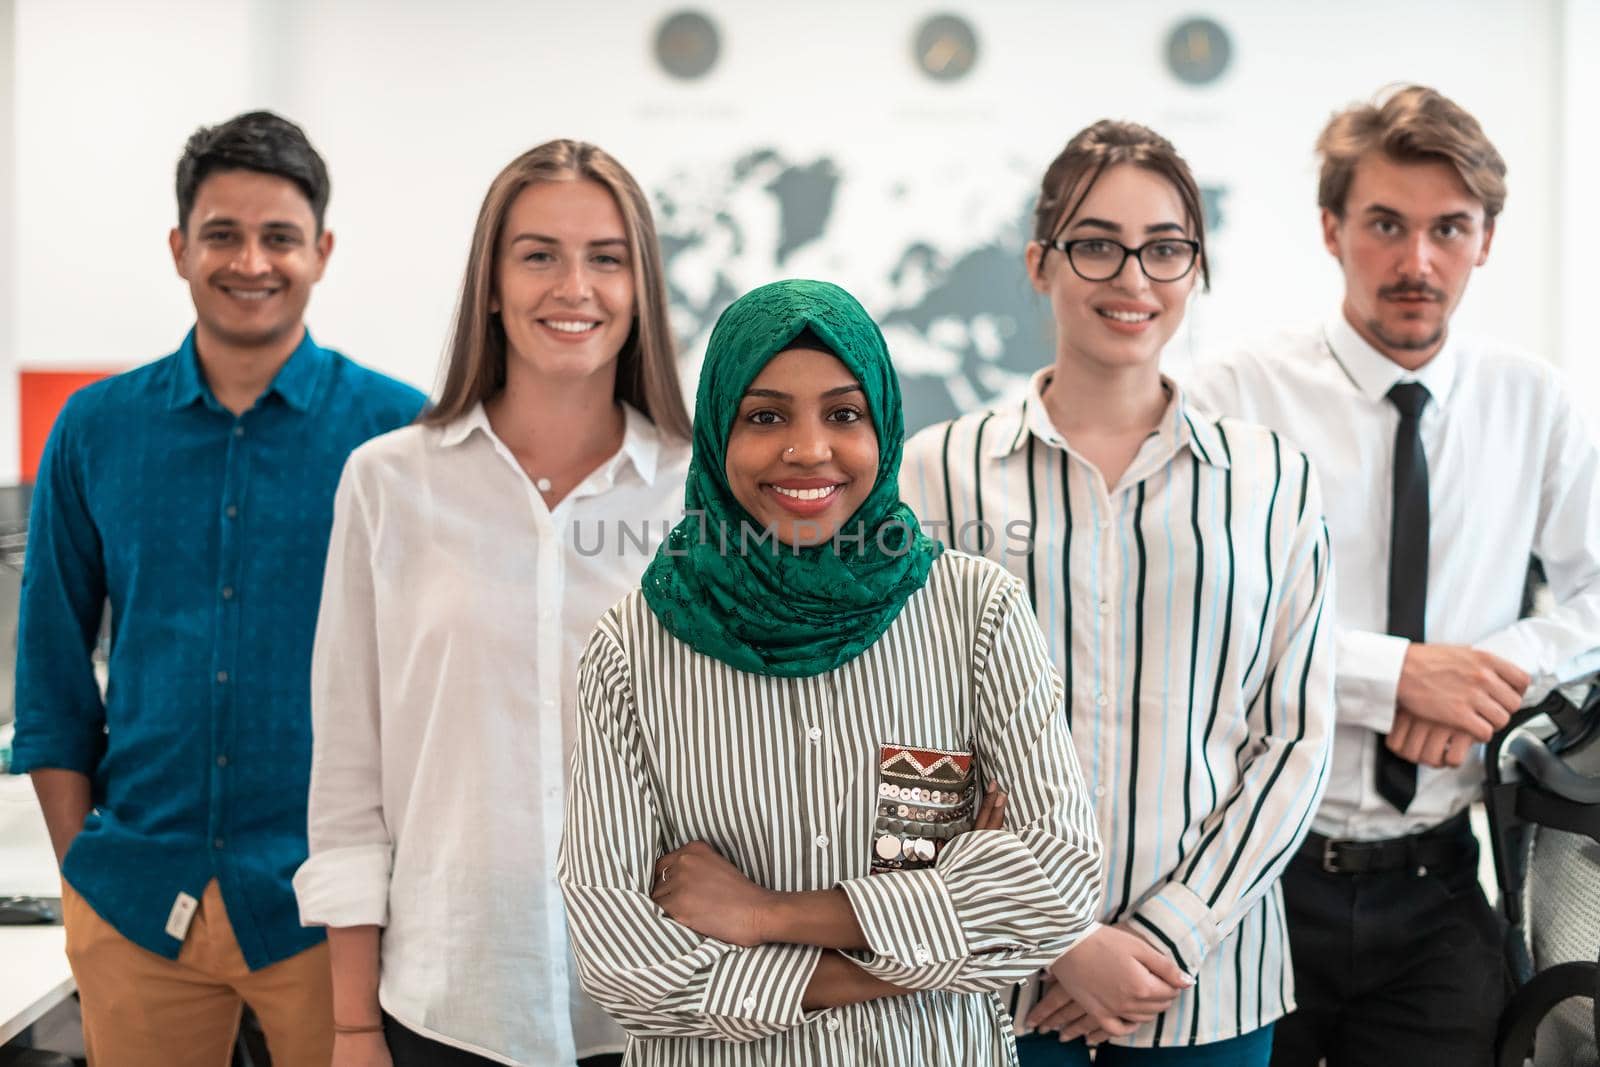
<path fill-rule="evenodd" d="M 294 878 L 336 1067 L 618 1061 L 554 881 L 576 662 L 682 514 L 688 432 L 638 184 L 574 141 L 512 160 L 438 403 L 336 499 Z"/>

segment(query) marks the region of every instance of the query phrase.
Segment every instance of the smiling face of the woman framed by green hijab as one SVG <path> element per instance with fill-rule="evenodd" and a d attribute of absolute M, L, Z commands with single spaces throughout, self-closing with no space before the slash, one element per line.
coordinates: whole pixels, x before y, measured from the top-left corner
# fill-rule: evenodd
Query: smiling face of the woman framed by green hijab
<path fill-rule="evenodd" d="M 872 494 L 878 434 L 861 382 L 814 349 L 774 355 L 739 402 L 728 486 L 787 545 L 821 544 Z"/>

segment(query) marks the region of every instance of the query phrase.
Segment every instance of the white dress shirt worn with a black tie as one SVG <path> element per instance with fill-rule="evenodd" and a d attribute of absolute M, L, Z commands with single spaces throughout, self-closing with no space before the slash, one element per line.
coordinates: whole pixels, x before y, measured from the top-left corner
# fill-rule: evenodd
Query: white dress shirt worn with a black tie
<path fill-rule="evenodd" d="M 1376 736 L 1389 733 L 1410 641 L 1389 617 L 1389 522 L 1400 414 L 1418 381 L 1429 477 L 1429 641 L 1472 645 L 1533 677 L 1525 702 L 1600 665 L 1600 451 L 1555 371 L 1451 334 L 1418 373 L 1336 315 L 1195 366 L 1197 402 L 1277 427 L 1322 475 L 1338 560 L 1338 713 L 1333 776 L 1314 829 L 1336 838 L 1414 833 L 1459 813 L 1483 784 L 1482 745 L 1459 768 L 1418 768 L 1402 814 L 1378 795 Z M 1557 606 L 1518 621 L 1528 557 Z"/>

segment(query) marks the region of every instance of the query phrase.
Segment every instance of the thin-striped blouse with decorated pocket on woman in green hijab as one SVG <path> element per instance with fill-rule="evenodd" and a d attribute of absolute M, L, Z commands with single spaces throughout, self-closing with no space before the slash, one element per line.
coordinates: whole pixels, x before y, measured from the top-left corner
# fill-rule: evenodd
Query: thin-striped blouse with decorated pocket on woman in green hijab
<path fill-rule="evenodd" d="M 702 656 L 634 592 L 589 641 L 579 704 L 560 878 L 626 1062 L 1016 1062 L 1000 993 L 1090 928 L 1101 865 L 1021 582 L 946 552 L 877 643 L 810 678 Z M 907 833 L 942 809 L 970 824 L 987 781 L 1005 830 Z M 851 955 L 918 992 L 803 1011 L 821 949 L 728 945 L 651 902 L 656 859 L 694 840 L 770 889 L 845 889 L 870 945 Z"/>

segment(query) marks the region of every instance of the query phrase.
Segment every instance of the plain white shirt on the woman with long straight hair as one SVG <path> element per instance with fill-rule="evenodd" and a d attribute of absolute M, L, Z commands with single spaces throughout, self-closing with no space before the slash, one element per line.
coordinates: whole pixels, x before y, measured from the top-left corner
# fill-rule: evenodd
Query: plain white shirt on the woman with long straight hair
<path fill-rule="evenodd" d="M 301 920 L 384 926 L 384 1011 L 496 1062 L 626 1041 L 555 883 L 578 657 L 683 512 L 688 446 L 626 418 L 554 510 L 482 406 L 368 442 L 334 504 Z"/>

